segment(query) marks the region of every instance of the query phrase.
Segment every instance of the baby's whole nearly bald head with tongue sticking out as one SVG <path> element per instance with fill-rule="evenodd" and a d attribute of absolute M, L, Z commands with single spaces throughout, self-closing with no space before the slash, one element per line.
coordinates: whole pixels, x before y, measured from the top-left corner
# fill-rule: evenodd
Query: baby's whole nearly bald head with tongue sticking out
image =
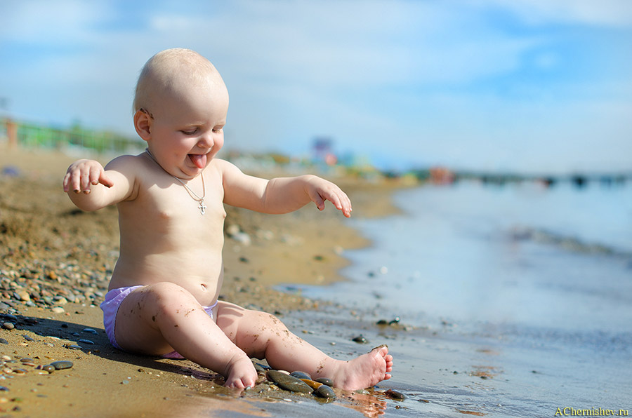
<path fill-rule="evenodd" d="M 227 112 L 219 72 L 192 50 L 163 50 L 140 72 L 134 127 L 171 175 L 192 178 L 210 163 L 223 146 Z"/>

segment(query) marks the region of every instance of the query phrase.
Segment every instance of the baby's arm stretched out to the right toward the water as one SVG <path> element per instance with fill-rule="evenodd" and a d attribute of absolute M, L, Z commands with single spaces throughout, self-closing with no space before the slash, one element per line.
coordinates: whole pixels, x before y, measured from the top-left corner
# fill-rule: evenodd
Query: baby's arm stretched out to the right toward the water
<path fill-rule="evenodd" d="M 222 172 L 224 202 L 262 213 L 289 213 L 310 201 L 319 210 L 330 201 L 346 217 L 351 216 L 351 201 L 336 184 L 315 175 L 279 177 L 264 180 L 245 175 L 226 161 L 216 160 Z"/>

